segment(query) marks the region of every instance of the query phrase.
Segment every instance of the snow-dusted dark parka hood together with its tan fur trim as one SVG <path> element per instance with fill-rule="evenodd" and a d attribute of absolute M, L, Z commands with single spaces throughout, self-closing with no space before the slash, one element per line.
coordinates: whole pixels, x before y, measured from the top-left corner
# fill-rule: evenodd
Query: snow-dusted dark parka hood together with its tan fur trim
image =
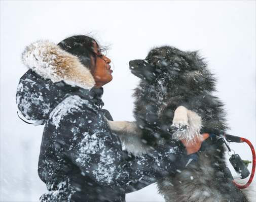
<path fill-rule="evenodd" d="M 29 70 L 20 78 L 16 103 L 28 120 L 45 120 L 67 94 L 86 95 L 94 89 L 90 70 L 52 42 L 31 43 L 22 62 Z"/>

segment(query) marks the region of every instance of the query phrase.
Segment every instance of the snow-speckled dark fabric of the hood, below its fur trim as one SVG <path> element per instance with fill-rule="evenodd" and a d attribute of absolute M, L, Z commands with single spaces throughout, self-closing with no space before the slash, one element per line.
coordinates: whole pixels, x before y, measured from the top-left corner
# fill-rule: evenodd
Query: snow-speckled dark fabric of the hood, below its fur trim
<path fill-rule="evenodd" d="M 63 81 L 53 83 L 28 70 L 18 84 L 16 103 L 19 112 L 27 120 L 47 119 L 65 95 L 75 89 Z"/>

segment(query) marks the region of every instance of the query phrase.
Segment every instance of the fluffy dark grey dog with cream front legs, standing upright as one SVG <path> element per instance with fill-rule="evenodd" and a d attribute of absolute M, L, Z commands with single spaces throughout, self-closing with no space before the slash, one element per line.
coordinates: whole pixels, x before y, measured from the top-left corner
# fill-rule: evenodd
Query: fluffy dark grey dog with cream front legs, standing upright
<path fill-rule="evenodd" d="M 134 92 L 136 122 L 109 122 L 128 151 L 150 153 L 157 144 L 227 130 L 223 104 L 213 95 L 215 79 L 197 52 L 163 46 L 129 64 L 141 78 Z M 224 153 L 222 144 L 209 144 L 196 163 L 159 180 L 159 192 L 171 202 L 248 201 L 227 174 Z"/>

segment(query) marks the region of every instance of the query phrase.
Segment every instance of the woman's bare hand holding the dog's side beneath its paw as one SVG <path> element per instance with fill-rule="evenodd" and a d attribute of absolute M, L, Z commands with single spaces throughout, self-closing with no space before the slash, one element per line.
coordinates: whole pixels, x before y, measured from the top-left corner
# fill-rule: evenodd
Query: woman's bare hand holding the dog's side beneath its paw
<path fill-rule="evenodd" d="M 180 139 L 187 149 L 187 154 L 194 154 L 201 148 L 202 142 L 209 137 L 208 133 L 203 133 L 199 136 L 195 135 L 193 141 L 188 141 L 187 139 Z"/>

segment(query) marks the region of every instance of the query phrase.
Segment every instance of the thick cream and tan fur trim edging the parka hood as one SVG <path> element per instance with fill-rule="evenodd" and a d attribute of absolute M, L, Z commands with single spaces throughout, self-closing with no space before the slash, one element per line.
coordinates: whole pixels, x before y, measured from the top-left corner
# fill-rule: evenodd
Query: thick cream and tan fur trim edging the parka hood
<path fill-rule="evenodd" d="M 21 59 L 27 68 L 54 83 L 64 81 L 84 89 L 91 89 L 95 85 L 90 70 L 78 57 L 63 51 L 48 40 L 39 40 L 28 45 Z"/>

